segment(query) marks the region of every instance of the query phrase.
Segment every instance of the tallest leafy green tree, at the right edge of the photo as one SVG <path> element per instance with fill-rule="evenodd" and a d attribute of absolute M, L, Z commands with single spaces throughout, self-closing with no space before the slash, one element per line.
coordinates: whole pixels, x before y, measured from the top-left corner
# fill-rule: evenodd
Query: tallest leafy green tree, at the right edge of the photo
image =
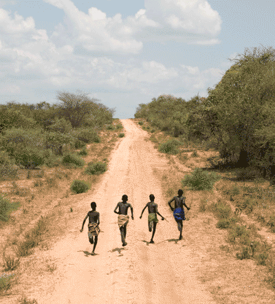
<path fill-rule="evenodd" d="M 249 54 L 245 50 L 243 58 L 233 59 L 236 63 L 221 82 L 208 88 L 208 104 L 216 114 L 221 137 L 221 156 L 239 155 L 240 166 L 248 166 L 257 154 L 256 130 L 263 135 L 264 128 L 274 123 L 274 55 L 272 48 L 254 48 Z"/>

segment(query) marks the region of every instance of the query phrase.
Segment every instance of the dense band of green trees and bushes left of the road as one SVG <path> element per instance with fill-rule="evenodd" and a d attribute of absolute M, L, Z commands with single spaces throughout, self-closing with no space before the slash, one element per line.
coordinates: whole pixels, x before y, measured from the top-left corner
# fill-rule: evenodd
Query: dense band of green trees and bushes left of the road
<path fill-rule="evenodd" d="M 113 122 L 114 109 L 87 94 L 58 93 L 59 103 L 0 105 L 0 179 L 17 175 L 19 166 L 58 166 L 59 158 L 100 142 L 98 131 Z M 120 128 L 120 124 L 118 124 Z M 85 155 L 85 149 L 80 153 Z M 76 164 L 76 163 L 75 163 Z M 77 161 L 77 166 L 80 162 Z"/>

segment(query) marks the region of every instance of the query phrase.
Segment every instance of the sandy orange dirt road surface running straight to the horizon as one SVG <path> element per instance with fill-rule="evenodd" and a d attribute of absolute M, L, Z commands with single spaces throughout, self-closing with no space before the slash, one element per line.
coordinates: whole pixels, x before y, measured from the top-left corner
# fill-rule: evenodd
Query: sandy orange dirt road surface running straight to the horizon
<path fill-rule="evenodd" d="M 76 202 L 83 213 L 49 252 L 57 261 L 57 270 L 40 282 L 39 292 L 30 296 L 35 295 L 39 304 L 215 303 L 210 292 L 196 279 L 194 266 L 199 261 L 192 254 L 190 238 L 184 236 L 185 239 L 177 241 L 175 220 L 162 197 L 160 181 L 153 175 L 153 168 L 168 167 L 167 161 L 153 149 L 151 142 L 144 140 L 148 136 L 146 132 L 131 120 L 122 120 L 122 124 L 126 137 L 111 155 L 109 171 L 104 173 L 92 197 Z M 169 221 L 159 218 L 155 244 L 148 243 L 151 239 L 148 211 L 139 218 L 151 193 L 155 195 L 159 213 Z M 122 247 L 118 215 L 113 213 L 124 194 L 129 197 L 134 216 L 127 226 L 126 247 Z M 102 230 L 96 256 L 90 255 L 87 222 L 80 233 L 93 201 L 98 205 Z M 184 225 L 192 225 L 192 221 Z"/>

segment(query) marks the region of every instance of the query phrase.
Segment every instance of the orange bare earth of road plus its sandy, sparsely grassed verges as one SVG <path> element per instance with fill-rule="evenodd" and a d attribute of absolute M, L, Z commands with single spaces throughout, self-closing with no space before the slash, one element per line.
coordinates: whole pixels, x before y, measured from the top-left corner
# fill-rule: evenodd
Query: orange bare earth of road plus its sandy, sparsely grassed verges
<path fill-rule="evenodd" d="M 245 283 L 248 279 L 245 270 L 254 268 L 254 264 L 252 261 L 236 261 L 219 250 L 226 232 L 214 228 L 213 220 L 207 215 L 195 215 L 198 208 L 196 197 L 189 211 L 190 221 L 184 222 L 184 239 L 178 240 L 179 231 L 156 174 L 158 170 L 170 168 L 168 160 L 153 148 L 150 141 L 144 140 L 148 133 L 131 120 L 121 122 L 126 137 L 113 151 L 109 170 L 102 176 L 93 195 L 83 193 L 72 198 L 75 211 L 68 223 L 67 234 L 50 250 L 37 252 L 36 265 L 30 263 L 29 270 L 26 269 L 25 281 L 29 281 L 29 286 L 25 295 L 35 298 L 39 304 L 274 303 L 264 299 L 266 290 L 262 295 L 251 291 L 245 298 L 244 288 L 250 285 L 250 281 Z M 148 211 L 145 210 L 142 219 L 139 218 L 151 193 L 155 195 L 159 213 L 168 220 L 162 221 L 158 217 L 155 244 L 148 243 L 151 239 Z M 124 194 L 128 195 L 128 202 L 133 206 L 134 217 L 132 220 L 129 210 L 126 247 L 122 247 L 118 215 L 113 213 Z M 92 245 L 87 236 L 88 220 L 80 233 L 91 202 L 96 202 L 100 213 L 101 232 L 95 256 L 91 256 Z M 190 199 L 186 204 L 190 206 Z M 218 254 L 219 261 L 215 263 Z M 31 278 L 34 268 L 38 265 L 41 268 L 45 260 L 54 261 L 56 270 Z M 228 271 L 228 267 L 232 271 Z M 217 301 L 209 285 L 199 281 L 202 276 L 208 281 L 208 270 L 212 290 L 217 294 L 225 279 L 232 281 L 232 285 L 225 285 L 223 294 L 226 299 L 219 297 Z M 255 284 L 261 289 L 260 283 Z M 273 293 L 270 293 L 271 298 Z M 11 300 L 4 298 L 4 303 L 14 303 Z"/>

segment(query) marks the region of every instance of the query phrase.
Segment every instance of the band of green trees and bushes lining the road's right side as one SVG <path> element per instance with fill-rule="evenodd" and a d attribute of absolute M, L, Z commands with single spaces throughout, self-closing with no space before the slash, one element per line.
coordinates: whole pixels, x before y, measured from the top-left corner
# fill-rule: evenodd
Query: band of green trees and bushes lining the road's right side
<path fill-rule="evenodd" d="M 238 56 L 221 81 L 208 87 L 207 98 L 162 95 L 140 104 L 135 118 L 175 137 L 204 141 L 227 164 L 274 174 L 275 50 L 254 47 Z"/>

